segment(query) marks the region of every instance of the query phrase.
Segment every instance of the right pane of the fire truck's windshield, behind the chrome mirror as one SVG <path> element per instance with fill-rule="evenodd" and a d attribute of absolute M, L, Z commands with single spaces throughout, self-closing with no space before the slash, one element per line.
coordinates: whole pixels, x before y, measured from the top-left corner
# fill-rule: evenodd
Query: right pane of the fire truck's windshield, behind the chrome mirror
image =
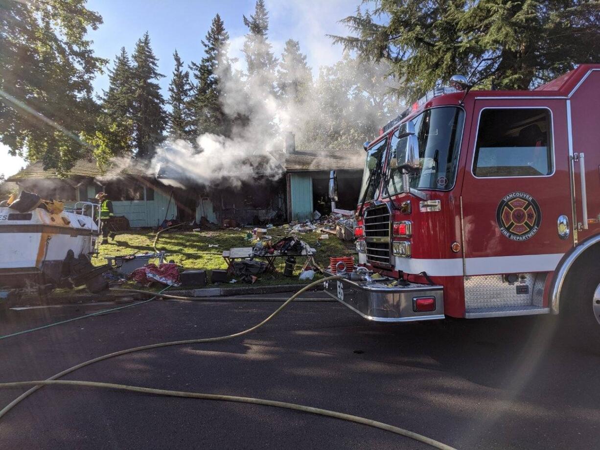
<path fill-rule="evenodd" d="M 410 174 L 415 189 L 450 190 L 454 187 L 464 111 L 455 106 L 428 109 L 411 119 L 419 143 L 420 168 Z M 390 195 L 403 191 L 402 172 L 408 136 L 400 127 L 392 136 L 389 149 L 388 190 Z M 387 192 L 385 192 L 387 194 Z"/>

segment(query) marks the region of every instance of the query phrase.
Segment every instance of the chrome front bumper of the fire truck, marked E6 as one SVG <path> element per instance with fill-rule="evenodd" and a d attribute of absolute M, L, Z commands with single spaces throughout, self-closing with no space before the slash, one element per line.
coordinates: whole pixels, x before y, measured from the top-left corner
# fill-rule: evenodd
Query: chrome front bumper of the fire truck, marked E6
<path fill-rule="evenodd" d="M 388 287 L 382 282 L 343 278 L 327 281 L 324 289 L 327 295 L 375 322 L 444 318 L 443 287 L 439 285 L 409 283 L 407 286 Z"/>

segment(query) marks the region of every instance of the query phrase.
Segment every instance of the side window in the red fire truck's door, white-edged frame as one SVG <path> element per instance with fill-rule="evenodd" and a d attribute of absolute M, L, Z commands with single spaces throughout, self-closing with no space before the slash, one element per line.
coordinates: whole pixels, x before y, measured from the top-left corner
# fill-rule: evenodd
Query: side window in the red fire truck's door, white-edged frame
<path fill-rule="evenodd" d="M 484 109 L 473 175 L 546 176 L 553 172 L 552 121 L 542 108 Z"/>

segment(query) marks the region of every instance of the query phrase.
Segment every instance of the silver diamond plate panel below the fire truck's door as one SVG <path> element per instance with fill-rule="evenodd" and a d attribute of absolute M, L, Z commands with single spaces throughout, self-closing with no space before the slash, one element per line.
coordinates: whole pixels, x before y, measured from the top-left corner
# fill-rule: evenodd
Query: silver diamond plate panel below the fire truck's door
<path fill-rule="evenodd" d="M 525 277 L 517 283 L 507 283 L 502 275 L 478 275 L 464 278 L 464 300 L 468 308 L 498 308 L 532 305 L 533 284 L 536 274 L 519 274 Z M 518 294 L 517 286 L 527 286 L 527 294 Z"/>

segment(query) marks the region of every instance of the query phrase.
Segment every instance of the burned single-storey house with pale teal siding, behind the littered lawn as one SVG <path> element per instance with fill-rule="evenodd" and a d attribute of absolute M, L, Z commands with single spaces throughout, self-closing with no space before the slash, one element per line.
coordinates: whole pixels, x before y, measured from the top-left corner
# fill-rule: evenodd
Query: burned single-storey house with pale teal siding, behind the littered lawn
<path fill-rule="evenodd" d="M 113 202 L 116 216 L 129 226 L 156 227 L 164 220 L 209 222 L 222 225 L 263 225 L 290 220 L 307 220 L 314 211 L 331 212 L 328 199 L 329 171 L 337 170 L 341 193 L 338 208 L 354 209 L 360 190 L 364 152 L 297 151 L 288 140 L 286 154 L 274 170 L 269 156 L 238 161 L 235 182 L 202 183 L 185 167 L 149 169 L 133 161 L 126 167 L 113 166 L 101 172 L 95 161 L 80 160 L 66 177 L 29 164 L 8 181 L 19 190 L 32 191 L 46 199 L 65 202 L 95 202 L 104 191 Z M 245 172 L 246 173 L 245 173 Z"/>

